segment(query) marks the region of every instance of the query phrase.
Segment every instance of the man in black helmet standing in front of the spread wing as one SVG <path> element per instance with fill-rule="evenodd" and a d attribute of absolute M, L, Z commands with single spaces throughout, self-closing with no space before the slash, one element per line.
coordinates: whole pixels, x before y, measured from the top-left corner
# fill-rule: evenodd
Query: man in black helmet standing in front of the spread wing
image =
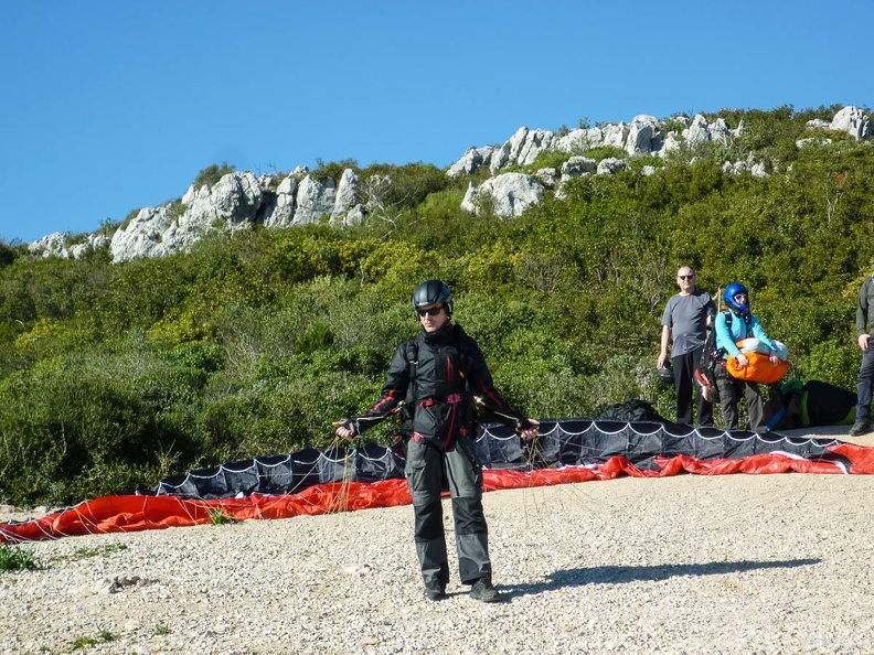
<path fill-rule="evenodd" d="M 499 602 L 482 511 L 482 468 L 475 451 L 475 396 L 523 439 L 536 437 L 539 423 L 511 409 L 494 388 L 477 342 L 452 323 L 452 296 L 447 284 L 427 280 L 416 287 L 413 308 L 422 330 L 395 351 L 380 399 L 356 417 L 333 425 L 338 437 L 352 440 L 390 416 L 401 401 L 407 404 L 412 437 L 405 473 L 425 597 L 434 601 L 446 598 L 449 582 L 440 501 L 445 468 L 461 582 L 471 586 L 473 599 Z"/>

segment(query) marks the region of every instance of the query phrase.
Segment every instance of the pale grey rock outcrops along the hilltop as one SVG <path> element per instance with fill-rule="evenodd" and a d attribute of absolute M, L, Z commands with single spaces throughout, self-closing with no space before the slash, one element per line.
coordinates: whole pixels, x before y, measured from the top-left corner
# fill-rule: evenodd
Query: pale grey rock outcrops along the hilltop
<path fill-rule="evenodd" d="M 831 121 L 809 121 L 810 130 L 820 130 L 822 138 L 799 140 L 799 148 L 812 143 L 828 144 L 829 131 L 848 132 L 854 139 L 871 139 L 871 118 L 857 107 L 844 107 Z M 461 207 L 477 212 L 483 196 L 491 198 L 490 207 L 499 215 L 513 217 L 539 203 L 547 191 L 563 197 L 564 184 L 583 175 L 611 175 L 629 168 L 635 157 L 665 158 L 682 148 L 708 141 L 725 144 L 743 133 L 743 121 L 729 126 L 722 118 L 708 122 L 702 115 L 693 118 L 678 116 L 660 121 L 653 116 L 636 116 L 631 122 L 606 124 L 580 128 L 558 135 L 550 130 L 519 130 L 501 146 L 470 148 L 446 174 L 469 176 L 483 169 L 488 180 L 470 183 Z M 610 146 L 625 153 L 623 158 L 597 161 L 586 152 Z M 543 152 L 568 154 L 561 170 L 540 169 L 533 174 L 510 172 L 513 167 L 530 167 Z M 654 173 L 644 167 L 644 174 Z M 768 174 L 755 153 L 743 161 L 725 161 L 725 174 L 749 172 L 755 176 Z M 285 175 L 259 175 L 233 172 L 216 184 L 190 186 L 179 201 L 158 207 L 143 207 L 111 237 L 103 233 L 86 235 L 81 243 L 68 244 L 68 237 L 54 233 L 29 245 L 31 253 L 44 257 L 77 258 L 98 248 L 108 248 L 113 261 L 138 257 L 162 257 L 188 251 L 205 234 L 266 227 L 288 227 L 319 223 L 328 217 L 332 225 L 356 225 L 366 221 L 375 208 L 379 189 L 391 179 L 374 176 L 362 184 L 352 169 L 345 169 L 338 180 L 313 175 L 307 168 L 298 168 Z"/>

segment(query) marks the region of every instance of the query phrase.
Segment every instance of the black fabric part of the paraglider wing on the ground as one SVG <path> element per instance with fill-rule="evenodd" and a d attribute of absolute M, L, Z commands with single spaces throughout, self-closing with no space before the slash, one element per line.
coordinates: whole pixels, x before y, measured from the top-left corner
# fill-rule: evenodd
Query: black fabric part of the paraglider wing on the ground
<path fill-rule="evenodd" d="M 639 471 L 659 471 L 664 460 L 681 455 L 713 461 L 780 453 L 830 461 L 852 472 L 852 462 L 829 450 L 835 443 L 839 442 L 674 423 L 567 418 L 541 421 L 540 437 L 527 443 L 523 443 L 511 428 L 501 423 L 487 425 L 477 439 L 477 455 L 483 468 L 495 471 L 597 468 L 611 458 L 623 458 Z M 316 484 L 403 477 L 404 458 L 398 449 L 366 443 L 353 449 L 310 448 L 200 469 L 168 477 L 147 493 L 228 498 L 253 493 L 297 493 Z"/>

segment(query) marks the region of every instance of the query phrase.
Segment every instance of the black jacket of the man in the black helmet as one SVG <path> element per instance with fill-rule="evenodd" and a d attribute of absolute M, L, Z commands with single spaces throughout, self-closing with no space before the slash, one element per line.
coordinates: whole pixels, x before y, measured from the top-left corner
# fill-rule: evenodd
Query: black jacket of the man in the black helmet
<path fill-rule="evenodd" d="M 423 329 L 397 346 L 380 399 L 354 419 L 358 431 L 364 432 L 394 414 L 401 401 L 407 400 L 408 390 L 413 438 L 444 450 L 473 430 L 475 396 L 516 430 L 530 426 L 494 388 L 479 345 L 460 325 L 447 323 L 435 333 Z"/>

